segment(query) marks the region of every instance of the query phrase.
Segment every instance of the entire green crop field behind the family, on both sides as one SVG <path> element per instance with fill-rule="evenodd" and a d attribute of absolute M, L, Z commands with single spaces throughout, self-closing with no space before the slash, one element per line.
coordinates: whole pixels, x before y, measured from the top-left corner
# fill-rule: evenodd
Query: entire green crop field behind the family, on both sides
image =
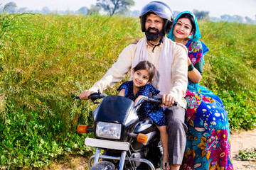
<path fill-rule="evenodd" d="M 199 24 L 210 50 L 201 85 L 223 100 L 231 130 L 255 128 L 256 26 Z M 0 169 L 40 169 L 92 152 L 84 145 L 92 134 L 76 127 L 92 125 L 96 106 L 73 97 L 142 37 L 138 18 L 0 13 Z"/>

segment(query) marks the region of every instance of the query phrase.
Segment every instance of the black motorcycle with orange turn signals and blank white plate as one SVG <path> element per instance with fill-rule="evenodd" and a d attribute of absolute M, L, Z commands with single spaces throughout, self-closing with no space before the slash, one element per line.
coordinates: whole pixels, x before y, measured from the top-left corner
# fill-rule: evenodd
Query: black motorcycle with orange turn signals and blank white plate
<path fill-rule="evenodd" d="M 98 98 L 103 98 L 100 106 L 93 111 L 94 127 L 78 125 L 80 133 L 94 132 L 95 138 L 85 138 L 85 145 L 96 147 L 95 154 L 88 162 L 90 170 L 153 170 L 161 166 L 163 149 L 159 130 L 151 119 L 137 115 L 144 103 L 160 104 L 161 98 L 144 97 L 137 106 L 123 96 L 95 93 L 89 98 L 94 103 Z"/>

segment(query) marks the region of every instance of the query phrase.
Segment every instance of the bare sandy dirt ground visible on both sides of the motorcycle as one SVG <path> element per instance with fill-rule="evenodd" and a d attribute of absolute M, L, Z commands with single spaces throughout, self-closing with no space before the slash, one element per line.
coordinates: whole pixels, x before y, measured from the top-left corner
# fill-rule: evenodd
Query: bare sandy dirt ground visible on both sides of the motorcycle
<path fill-rule="evenodd" d="M 234 170 L 256 169 L 256 162 L 240 161 L 238 152 L 256 147 L 256 129 L 251 131 L 233 132 L 231 134 L 231 156 Z M 68 157 L 65 162 L 52 164 L 49 169 L 54 170 L 85 170 L 88 169 L 85 157 Z"/>

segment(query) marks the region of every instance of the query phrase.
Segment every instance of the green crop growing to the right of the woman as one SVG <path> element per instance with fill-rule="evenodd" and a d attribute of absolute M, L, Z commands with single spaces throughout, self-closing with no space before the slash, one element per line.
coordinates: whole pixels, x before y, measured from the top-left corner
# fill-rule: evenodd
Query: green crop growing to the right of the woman
<path fill-rule="evenodd" d="M 231 130 L 255 128 L 256 27 L 201 22 L 200 28 L 209 47 L 201 84 L 220 96 Z"/>

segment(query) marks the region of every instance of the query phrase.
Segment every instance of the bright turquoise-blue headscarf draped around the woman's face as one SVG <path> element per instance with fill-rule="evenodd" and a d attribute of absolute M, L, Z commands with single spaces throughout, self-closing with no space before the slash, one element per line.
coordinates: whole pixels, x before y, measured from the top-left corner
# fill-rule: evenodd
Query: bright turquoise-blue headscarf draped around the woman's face
<path fill-rule="evenodd" d="M 173 24 L 173 26 L 172 26 L 172 28 L 171 28 L 171 31 L 170 31 L 169 35 L 167 35 L 167 38 L 170 38 L 171 40 L 174 41 L 174 26 L 175 26 L 176 22 L 178 21 L 178 18 L 179 18 L 183 13 L 189 13 L 189 14 L 191 14 L 191 16 L 193 16 L 193 19 L 194 19 L 194 22 L 195 22 L 195 25 L 196 25 L 196 30 L 193 30 L 193 33 L 192 33 L 192 35 L 191 35 L 191 40 L 193 40 L 193 41 L 194 41 L 194 40 L 199 40 L 199 38 L 201 38 L 201 33 L 200 33 L 200 31 L 199 31 L 198 22 L 197 22 L 197 20 L 196 20 L 196 16 L 195 16 L 193 13 L 191 13 L 191 11 L 183 11 L 183 12 L 181 12 L 181 13 L 178 13 L 178 15 L 176 16 L 176 18 L 175 18 L 175 20 L 174 20 L 174 24 Z"/>

